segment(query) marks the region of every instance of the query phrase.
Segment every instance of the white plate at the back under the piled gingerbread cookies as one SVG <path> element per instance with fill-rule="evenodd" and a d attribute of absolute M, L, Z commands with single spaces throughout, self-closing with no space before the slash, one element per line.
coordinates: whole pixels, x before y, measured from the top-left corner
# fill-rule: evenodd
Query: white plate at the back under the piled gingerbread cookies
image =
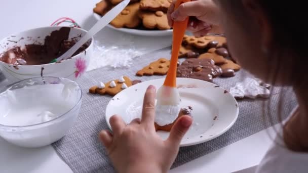
<path fill-rule="evenodd" d="M 96 20 L 99 20 L 101 18 L 100 15 L 93 13 L 94 18 Z M 142 36 L 172 36 L 172 29 L 168 30 L 140 30 L 140 29 L 129 29 L 129 28 L 115 28 L 111 25 L 107 25 L 108 28 L 120 31 L 120 32 L 125 32 L 129 34 L 134 34 L 134 35 L 142 35 Z"/>

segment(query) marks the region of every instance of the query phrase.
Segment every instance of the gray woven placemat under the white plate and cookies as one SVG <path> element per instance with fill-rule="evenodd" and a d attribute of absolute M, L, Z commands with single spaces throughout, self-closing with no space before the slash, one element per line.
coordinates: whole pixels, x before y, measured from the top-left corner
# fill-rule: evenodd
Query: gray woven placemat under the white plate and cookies
<path fill-rule="evenodd" d="M 110 55 L 112 56 L 112 55 Z M 153 53 L 143 55 L 134 59 L 130 68 L 110 69 L 101 68 L 87 72 L 78 83 L 83 90 L 83 104 L 80 115 L 68 134 L 60 141 L 53 144 L 53 147 L 63 160 L 74 172 L 114 172 L 114 169 L 106 155 L 106 151 L 97 139 L 97 134 L 101 129 L 107 129 L 105 122 L 105 108 L 111 97 L 88 94 L 92 85 L 97 81 L 109 81 L 118 79 L 122 75 L 127 75 L 131 79 L 141 79 L 143 81 L 161 78 L 162 76 L 137 77 L 136 71 L 146 66 L 150 61 L 161 57 L 170 57 L 170 48 L 165 48 Z M 103 60 L 102 60 L 103 61 Z M 226 90 L 234 86 L 237 81 L 242 80 L 248 74 L 241 70 L 232 78 L 216 78 L 215 83 Z M 279 89 L 274 90 L 271 99 L 271 111 L 275 115 L 279 101 Z M 283 117 L 296 105 L 294 95 L 284 99 Z M 232 128 L 222 136 L 209 142 L 182 147 L 179 151 L 173 167 L 182 165 L 188 161 L 218 150 L 250 135 L 253 135 L 268 125 L 262 120 L 262 100 L 242 100 L 239 101 L 239 118 Z M 274 122 L 278 119 L 274 116 Z"/>

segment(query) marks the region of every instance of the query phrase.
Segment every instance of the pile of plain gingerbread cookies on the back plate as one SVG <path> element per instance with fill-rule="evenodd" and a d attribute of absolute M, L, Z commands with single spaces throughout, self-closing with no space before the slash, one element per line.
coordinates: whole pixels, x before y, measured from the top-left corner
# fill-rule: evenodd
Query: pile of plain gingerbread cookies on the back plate
<path fill-rule="evenodd" d="M 103 0 L 96 4 L 94 13 L 105 15 L 123 0 Z M 172 0 L 131 0 L 130 4 L 110 24 L 115 28 L 170 29 L 167 10 Z"/>

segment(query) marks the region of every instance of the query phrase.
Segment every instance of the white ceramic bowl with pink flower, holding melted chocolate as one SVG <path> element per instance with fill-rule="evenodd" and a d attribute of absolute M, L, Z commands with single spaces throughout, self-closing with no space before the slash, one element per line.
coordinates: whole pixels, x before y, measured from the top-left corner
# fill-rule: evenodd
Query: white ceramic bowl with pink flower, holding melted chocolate
<path fill-rule="evenodd" d="M 44 44 L 44 38 L 52 31 L 59 30 L 61 26 L 49 26 L 30 29 L 20 33 L 12 34 L 0 41 L 0 54 L 12 49 L 15 46 L 24 46 L 28 44 Z M 69 37 L 84 36 L 87 33 L 86 30 L 80 28 L 71 28 Z M 71 80 L 75 80 L 82 76 L 86 71 L 90 58 L 93 54 L 93 37 L 90 46 L 86 51 L 73 56 L 71 59 L 62 61 L 61 63 L 50 63 L 42 65 L 19 65 L 18 69 L 13 65 L 0 61 L 0 68 L 10 83 L 41 76 L 42 67 L 44 67 L 44 76 L 64 77 Z"/>

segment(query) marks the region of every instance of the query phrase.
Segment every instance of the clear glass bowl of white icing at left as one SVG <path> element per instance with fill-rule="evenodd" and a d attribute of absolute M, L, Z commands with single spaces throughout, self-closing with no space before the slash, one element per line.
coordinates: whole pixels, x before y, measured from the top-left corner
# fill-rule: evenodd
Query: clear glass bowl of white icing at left
<path fill-rule="evenodd" d="M 21 80 L 0 91 L 0 136 L 22 147 L 42 147 L 61 139 L 78 117 L 80 86 L 59 77 Z"/>

